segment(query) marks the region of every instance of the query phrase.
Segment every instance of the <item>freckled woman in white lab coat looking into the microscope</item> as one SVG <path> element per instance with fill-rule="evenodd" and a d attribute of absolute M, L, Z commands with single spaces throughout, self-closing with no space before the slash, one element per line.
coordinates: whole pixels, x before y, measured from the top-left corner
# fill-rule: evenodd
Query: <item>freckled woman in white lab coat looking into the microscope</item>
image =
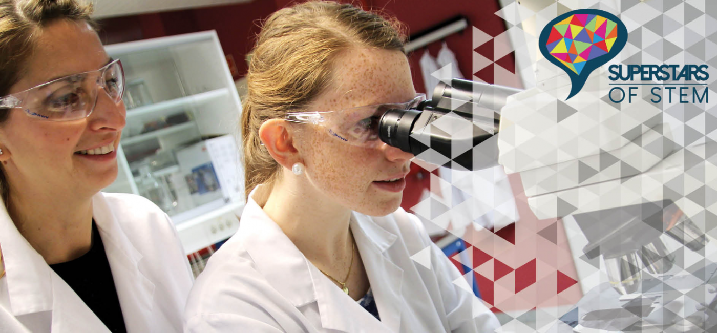
<path fill-rule="evenodd" d="M 186 332 L 493 332 L 399 208 L 413 156 L 378 139 L 417 106 L 397 22 L 308 2 L 267 19 L 242 115 L 247 205 L 189 296 Z M 462 288 L 465 287 L 465 288 Z"/>

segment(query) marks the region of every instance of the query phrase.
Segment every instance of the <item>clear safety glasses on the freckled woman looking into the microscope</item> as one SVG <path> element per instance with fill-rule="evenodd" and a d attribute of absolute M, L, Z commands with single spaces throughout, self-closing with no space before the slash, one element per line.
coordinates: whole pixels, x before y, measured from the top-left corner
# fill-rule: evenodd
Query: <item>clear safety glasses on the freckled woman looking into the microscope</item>
<path fill-rule="evenodd" d="M 294 112 L 287 113 L 285 119 L 323 127 L 329 135 L 346 144 L 371 147 L 381 144 L 379 120 L 386 111 L 416 108 L 424 100 L 426 95 L 418 94 L 406 103 L 364 105 L 340 111 Z"/>

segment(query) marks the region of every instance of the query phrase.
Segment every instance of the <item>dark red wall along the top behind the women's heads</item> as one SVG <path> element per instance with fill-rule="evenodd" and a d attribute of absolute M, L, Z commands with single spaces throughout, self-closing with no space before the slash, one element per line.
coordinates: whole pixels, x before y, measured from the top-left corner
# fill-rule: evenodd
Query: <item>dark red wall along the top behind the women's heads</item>
<path fill-rule="evenodd" d="M 251 50 L 254 37 L 259 32 L 258 24 L 272 12 L 293 2 L 293 0 L 254 0 L 227 6 L 104 19 L 100 21 L 100 35 L 105 44 L 114 44 L 214 29 L 217 30 L 224 53 L 234 57 L 239 76 L 243 76 L 247 71 L 244 57 Z M 407 25 L 409 34 L 422 32 L 457 15 L 467 17 L 470 25 L 492 36 L 505 31 L 503 20 L 492 14 L 499 9 L 497 0 L 480 1 L 480 5 L 473 3 L 468 6 L 463 1 L 435 0 L 363 0 L 353 3 L 397 17 Z M 473 75 L 470 72 L 473 50 L 468 47 L 472 44 L 470 27 L 464 32 L 452 34 L 445 39 L 445 42 L 455 52 L 463 76 L 470 78 Z M 439 49 L 440 42 L 427 47 L 432 55 L 437 55 Z M 416 50 L 410 57 L 414 84 L 420 92 L 424 92 L 424 86 L 418 60 L 424 50 Z M 477 51 L 492 59 L 493 43 L 488 42 Z M 486 82 L 493 82 L 492 67 L 486 67 L 478 72 L 477 76 Z"/>

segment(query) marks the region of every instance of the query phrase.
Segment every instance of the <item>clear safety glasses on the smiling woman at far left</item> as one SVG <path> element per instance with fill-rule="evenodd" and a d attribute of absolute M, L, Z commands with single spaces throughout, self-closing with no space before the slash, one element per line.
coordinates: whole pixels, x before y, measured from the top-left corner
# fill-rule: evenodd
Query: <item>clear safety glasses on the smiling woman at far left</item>
<path fill-rule="evenodd" d="M 113 102 L 125 92 L 125 73 L 120 60 L 99 70 L 70 75 L 0 98 L 0 108 L 22 108 L 27 116 L 47 121 L 74 121 L 90 116 L 103 88 Z"/>

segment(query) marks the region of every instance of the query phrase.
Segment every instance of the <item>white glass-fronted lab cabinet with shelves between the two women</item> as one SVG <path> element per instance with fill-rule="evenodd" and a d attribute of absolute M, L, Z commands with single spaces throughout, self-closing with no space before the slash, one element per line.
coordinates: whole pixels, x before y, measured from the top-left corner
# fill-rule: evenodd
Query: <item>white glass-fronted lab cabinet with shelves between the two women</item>
<path fill-rule="evenodd" d="M 187 253 L 228 238 L 244 207 L 243 172 L 234 140 L 213 138 L 239 135 L 242 105 L 216 32 L 105 48 L 125 70 L 127 124 L 118 178 L 104 191 L 155 202 L 171 216 Z"/>

